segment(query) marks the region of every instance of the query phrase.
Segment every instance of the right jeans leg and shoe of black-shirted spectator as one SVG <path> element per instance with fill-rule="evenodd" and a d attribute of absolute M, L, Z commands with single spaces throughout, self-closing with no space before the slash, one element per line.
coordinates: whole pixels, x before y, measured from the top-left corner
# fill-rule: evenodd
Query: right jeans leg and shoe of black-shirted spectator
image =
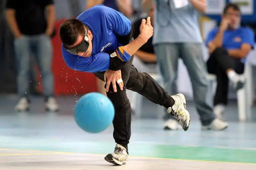
<path fill-rule="evenodd" d="M 46 110 L 57 111 L 59 106 L 54 98 L 54 81 L 52 73 L 52 44 L 49 37 L 38 35 L 33 37 L 36 45 L 36 60 L 41 73 Z"/>

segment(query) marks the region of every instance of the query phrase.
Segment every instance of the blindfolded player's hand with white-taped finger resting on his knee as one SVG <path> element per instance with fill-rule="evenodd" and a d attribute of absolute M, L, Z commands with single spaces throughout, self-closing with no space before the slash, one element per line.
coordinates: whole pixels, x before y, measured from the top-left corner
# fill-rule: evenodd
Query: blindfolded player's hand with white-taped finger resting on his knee
<path fill-rule="evenodd" d="M 114 92 L 117 92 L 116 82 L 119 85 L 120 89 L 123 90 L 124 83 L 122 80 L 121 70 L 118 70 L 118 71 L 107 70 L 104 73 L 104 81 L 105 82 L 107 81 L 106 92 L 109 91 L 109 86 L 111 83 L 113 85 Z"/>

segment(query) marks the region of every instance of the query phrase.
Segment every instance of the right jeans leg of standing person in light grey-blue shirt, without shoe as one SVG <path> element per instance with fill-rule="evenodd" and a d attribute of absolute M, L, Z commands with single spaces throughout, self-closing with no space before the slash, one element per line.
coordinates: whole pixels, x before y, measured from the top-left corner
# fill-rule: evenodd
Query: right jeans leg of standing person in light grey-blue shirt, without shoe
<path fill-rule="evenodd" d="M 206 102 L 207 80 L 206 65 L 203 61 L 203 44 L 184 43 L 182 45 L 182 59 L 187 66 L 191 79 L 196 109 L 200 115 L 203 126 L 207 126 L 215 119 L 212 108 Z"/>

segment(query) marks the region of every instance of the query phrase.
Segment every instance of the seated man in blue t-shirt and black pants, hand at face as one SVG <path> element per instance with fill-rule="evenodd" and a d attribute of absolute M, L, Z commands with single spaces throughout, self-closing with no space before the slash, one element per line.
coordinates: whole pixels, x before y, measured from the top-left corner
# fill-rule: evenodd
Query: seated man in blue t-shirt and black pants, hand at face
<path fill-rule="evenodd" d="M 238 90 L 244 80 L 239 74 L 244 72 L 244 61 L 254 48 L 254 33 L 249 28 L 240 27 L 241 12 L 236 4 L 224 8 L 219 28 L 213 29 L 206 39 L 210 57 L 208 72 L 216 74 L 217 89 L 214 97 L 214 112 L 222 118 L 228 100 L 228 82 Z"/>

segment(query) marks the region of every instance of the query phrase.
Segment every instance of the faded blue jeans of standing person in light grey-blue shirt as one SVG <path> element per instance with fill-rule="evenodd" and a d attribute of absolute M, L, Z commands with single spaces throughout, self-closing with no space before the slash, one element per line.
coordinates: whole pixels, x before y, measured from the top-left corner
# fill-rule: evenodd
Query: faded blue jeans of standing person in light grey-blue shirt
<path fill-rule="evenodd" d="M 156 44 L 154 48 L 165 89 L 171 95 L 177 92 L 178 58 L 182 58 L 191 79 L 195 105 L 202 125 L 209 125 L 215 119 L 215 115 L 206 102 L 209 83 L 206 64 L 203 61 L 202 45 L 200 43 L 161 43 Z"/>

